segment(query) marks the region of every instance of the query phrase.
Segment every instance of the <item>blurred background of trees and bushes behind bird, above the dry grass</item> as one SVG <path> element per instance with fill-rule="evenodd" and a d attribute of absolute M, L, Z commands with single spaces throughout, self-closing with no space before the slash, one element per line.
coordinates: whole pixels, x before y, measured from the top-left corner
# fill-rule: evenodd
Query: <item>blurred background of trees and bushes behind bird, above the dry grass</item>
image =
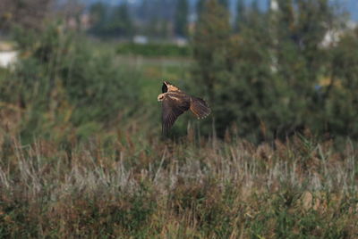
<path fill-rule="evenodd" d="M 0 132 L 159 136 L 162 80 L 212 115 L 174 136 L 358 139 L 354 0 L 2 0 Z"/>

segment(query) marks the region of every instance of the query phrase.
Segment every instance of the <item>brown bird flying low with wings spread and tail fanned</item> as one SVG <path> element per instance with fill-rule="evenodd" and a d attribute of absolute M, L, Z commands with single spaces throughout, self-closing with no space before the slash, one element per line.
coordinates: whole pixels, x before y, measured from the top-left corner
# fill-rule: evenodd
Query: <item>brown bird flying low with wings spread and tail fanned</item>
<path fill-rule="evenodd" d="M 163 82 L 162 92 L 163 94 L 158 95 L 158 102 L 162 102 L 163 135 L 168 133 L 175 120 L 184 111 L 191 110 L 198 119 L 203 119 L 210 114 L 209 105 L 203 99 L 187 95 L 167 81 Z"/>

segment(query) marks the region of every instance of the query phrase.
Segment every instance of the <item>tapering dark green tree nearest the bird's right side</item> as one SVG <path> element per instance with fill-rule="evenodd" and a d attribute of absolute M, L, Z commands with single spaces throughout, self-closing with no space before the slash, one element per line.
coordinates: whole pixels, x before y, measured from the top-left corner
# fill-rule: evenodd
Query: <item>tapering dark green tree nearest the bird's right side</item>
<path fill-rule="evenodd" d="M 234 62 L 216 90 L 216 123 L 219 136 L 233 123 L 246 138 L 262 140 L 274 134 L 277 123 L 277 81 L 272 77 L 268 16 L 245 12 L 240 34 L 230 50 Z M 261 126 L 261 127 L 260 127 Z"/>

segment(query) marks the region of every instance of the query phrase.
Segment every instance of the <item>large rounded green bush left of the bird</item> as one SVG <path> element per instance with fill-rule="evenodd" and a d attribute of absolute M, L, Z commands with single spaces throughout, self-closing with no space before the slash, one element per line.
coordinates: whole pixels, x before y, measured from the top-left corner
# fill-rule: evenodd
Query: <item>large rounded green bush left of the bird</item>
<path fill-rule="evenodd" d="M 115 66 L 113 55 L 96 53 L 85 39 L 56 24 L 38 36 L 30 33 L 28 40 L 26 34 L 16 34 L 23 58 L 0 79 L 0 101 L 26 112 L 23 140 L 42 134 L 61 138 L 76 130 L 74 135 L 89 136 L 83 132 L 96 132 L 134 111 L 136 73 Z M 132 110 L 124 109 L 125 103 Z"/>

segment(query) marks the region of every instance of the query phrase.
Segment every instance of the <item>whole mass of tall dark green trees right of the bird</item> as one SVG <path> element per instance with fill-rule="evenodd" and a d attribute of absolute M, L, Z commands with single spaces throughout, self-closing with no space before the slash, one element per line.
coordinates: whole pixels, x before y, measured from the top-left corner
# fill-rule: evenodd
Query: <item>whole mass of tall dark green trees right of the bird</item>
<path fill-rule="evenodd" d="M 358 74 L 347 66 L 358 58 L 346 49 L 356 48 L 357 36 L 346 30 L 337 45 L 323 45 L 330 30 L 342 29 L 333 6 L 325 0 L 278 1 L 277 11 L 260 12 L 240 3 L 234 34 L 228 13 L 208 1 L 193 42 L 194 82 L 209 95 L 219 136 L 234 125 L 255 142 L 304 128 L 356 138 Z"/>

